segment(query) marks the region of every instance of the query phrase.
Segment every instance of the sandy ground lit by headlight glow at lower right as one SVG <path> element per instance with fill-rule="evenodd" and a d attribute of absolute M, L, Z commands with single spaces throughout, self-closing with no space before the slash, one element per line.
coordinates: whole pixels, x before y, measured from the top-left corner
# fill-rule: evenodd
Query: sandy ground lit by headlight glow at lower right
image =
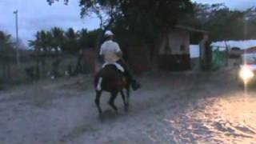
<path fill-rule="evenodd" d="M 256 143 L 256 88 L 247 93 L 229 71 L 146 74 L 118 114 L 102 96 L 94 106 L 90 75 L 35 82 L 0 92 L 0 143 Z"/>

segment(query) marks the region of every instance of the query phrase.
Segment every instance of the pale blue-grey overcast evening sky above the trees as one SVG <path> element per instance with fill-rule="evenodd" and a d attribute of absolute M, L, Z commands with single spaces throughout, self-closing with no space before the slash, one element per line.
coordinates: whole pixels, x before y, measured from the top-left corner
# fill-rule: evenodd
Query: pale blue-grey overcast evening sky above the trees
<path fill-rule="evenodd" d="M 37 30 L 50 30 L 53 26 L 63 29 L 73 27 L 75 30 L 98 27 L 98 19 L 80 18 L 79 0 L 70 0 L 68 6 L 62 2 L 49 6 L 46 0 L 0 0 L 0 30 L 15 34 L 14 10 L 18 10 L 19 36 L 23 42 L 34 39 Z M 256 6 L 256 0 L 192 0 L 202 3 L 223 2 L 231 9 L 243 10 Z"/>

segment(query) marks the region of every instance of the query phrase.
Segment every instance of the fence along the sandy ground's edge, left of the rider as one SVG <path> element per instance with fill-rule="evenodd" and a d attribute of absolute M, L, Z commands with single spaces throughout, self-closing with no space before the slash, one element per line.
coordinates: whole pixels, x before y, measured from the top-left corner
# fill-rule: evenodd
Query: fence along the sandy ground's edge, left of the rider
<path fill-rule="evenodd" d="M 65 76 L 67 71 L 75 72 L 78 55 L 62 54 L 56 57 L 30 57 L 18 67 L 15 62 L 0 61 L 0 89 L 31 82 L 38 78 L 50 77 L 50 74 Z M 82 64 L 81 70 L 86 70 Z"/>

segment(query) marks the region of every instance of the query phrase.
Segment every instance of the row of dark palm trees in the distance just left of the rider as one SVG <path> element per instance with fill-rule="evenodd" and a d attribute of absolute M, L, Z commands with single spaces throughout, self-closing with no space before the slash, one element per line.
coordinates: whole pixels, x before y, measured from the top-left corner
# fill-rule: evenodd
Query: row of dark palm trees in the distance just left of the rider
<path fill-rule="evenodd" d="M 86 29 L 75 31 L 73 28 L 64 31 L 54 27 L 49 31 L 38 31 L 35 39 L 29 41 L 29 46 L 38 53 L 52 54 L 53 51 L 58 53 L 61 50 L 66 54 L 77 54 L 79 50 L 95 47 L 98 32 Z"/>

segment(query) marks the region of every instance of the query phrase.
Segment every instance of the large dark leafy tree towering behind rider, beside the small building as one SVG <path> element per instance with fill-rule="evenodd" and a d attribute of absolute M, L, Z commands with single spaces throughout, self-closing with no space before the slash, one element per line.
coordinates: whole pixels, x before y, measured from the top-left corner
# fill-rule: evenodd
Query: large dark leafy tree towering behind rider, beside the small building
<path fill-rule="evenodd" d="M 152 58 L 161 34 L 193 12 L 190 0 L 80 0 L 80 6 L 82 16 L 105 14 L 104 30 L 119 26 L 118 30 L 132 34 L 135 40 L 150 42 Z"/>

